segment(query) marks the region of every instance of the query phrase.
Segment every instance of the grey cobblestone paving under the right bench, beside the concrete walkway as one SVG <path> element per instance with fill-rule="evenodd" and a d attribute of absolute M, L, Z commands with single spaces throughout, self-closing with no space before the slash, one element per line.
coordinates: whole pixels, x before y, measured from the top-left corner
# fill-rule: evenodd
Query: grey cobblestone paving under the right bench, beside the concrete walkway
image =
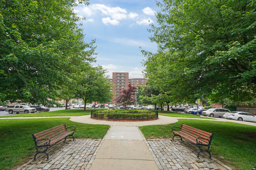
<path fill-rule="evenodd" d="M 197 163 L 198 147 L 185 140 L 152 139 L 145 142 L 160 170 L 232 170 L 213 157 L 212 161 L 206 159 L 208 153 L 201 152 L 199 158 L 204 162 Z"/>

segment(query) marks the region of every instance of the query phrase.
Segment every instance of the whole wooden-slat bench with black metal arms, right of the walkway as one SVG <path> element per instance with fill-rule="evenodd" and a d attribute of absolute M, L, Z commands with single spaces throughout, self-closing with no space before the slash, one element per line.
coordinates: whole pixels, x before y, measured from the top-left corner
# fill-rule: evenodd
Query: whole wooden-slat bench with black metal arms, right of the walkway
<path fill-rule="evenodd" d="M 200 152 L 208 152 L 208 154 L 210 155 L 209 158 L 211 159 L 211 154 L 208 150 L 211 145 L 211 139 L 213 137 L 213 133 L 205 132 L 203 130 L 193 128 L 191 126 L 187 126 L 186 124 L 182 124 L 179 128 L 180 129 L 179 131 L 176 131 L 175 128 L 179 128 L 179 127 L 175 127 L 175 126 L 172 127 L 172 132 L 174 136 L 179 136 L 181 140 L 182 140 L 182 137 L 184 137 L 188 141 L 195 143 L 198 146 L 200 150 L 197 154 L 198 159 L 199 159 Z M 174 136 L 173 136 L 173 140 L 174 140 Z M 201 146 L 206 146 L 207 149 L 202 149 Z"/>

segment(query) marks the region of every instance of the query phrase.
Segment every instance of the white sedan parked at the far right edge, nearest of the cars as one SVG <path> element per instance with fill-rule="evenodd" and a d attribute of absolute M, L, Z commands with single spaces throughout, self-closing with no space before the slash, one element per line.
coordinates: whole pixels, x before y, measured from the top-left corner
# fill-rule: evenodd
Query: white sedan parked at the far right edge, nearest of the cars
<path fill-rule="evenodd" d="M 248 122 L 256 122 L 256 116 L 247 112 L 227 112 L 223 115 L 226 119 L 234 119 L 237 121 L 248 121 Z"/>

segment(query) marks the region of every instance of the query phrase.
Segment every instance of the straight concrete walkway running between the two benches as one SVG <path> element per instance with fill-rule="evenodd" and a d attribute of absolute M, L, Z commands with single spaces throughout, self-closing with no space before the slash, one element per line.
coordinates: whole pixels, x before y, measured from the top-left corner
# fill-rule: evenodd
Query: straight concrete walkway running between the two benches
<path fill-rule="evenodd" d="M 157 170 L 136 126 L 111 126 L 89 170 Z"/>

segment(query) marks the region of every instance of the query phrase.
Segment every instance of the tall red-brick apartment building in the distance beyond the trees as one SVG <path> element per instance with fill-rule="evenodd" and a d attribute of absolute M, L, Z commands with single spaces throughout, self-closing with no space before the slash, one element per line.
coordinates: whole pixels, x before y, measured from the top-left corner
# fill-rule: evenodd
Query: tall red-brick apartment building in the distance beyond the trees
<path fill-rule="evenodd" d="M 117 104 L 116 99 L 122 94 L 122 90 L 128 89 L 128 85 L 137 86 L 137 85 L 145 85 L 147 79 L 139 78 L 139 79 L 129 79 L 129 73 L 112 73 L 112 79 L 109 79 L 109 82 L 113 83 L 113 100 L 109 102 L 109 104 Z M 132 96 L 135 99 L 135 96 Z"/>

